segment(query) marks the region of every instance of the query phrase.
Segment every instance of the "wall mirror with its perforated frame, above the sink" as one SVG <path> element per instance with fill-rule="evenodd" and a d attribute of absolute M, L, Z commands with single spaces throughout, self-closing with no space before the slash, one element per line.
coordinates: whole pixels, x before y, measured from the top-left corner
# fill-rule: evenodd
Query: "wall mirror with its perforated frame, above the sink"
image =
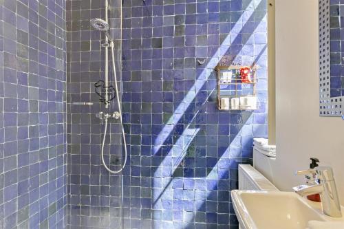
<path fill-rule="evenodd" d="M 344 119 L 344 1 L 319 0 L 320 116 Z"/>

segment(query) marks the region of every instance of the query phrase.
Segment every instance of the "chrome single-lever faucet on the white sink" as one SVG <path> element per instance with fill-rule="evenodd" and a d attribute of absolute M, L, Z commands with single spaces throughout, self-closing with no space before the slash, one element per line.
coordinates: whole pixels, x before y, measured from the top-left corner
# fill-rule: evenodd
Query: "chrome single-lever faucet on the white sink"
<path fill-rule="evenodd" d="M 295 193 L 305 197 L 319 194 L 323 213 L 330 217 L 341 217 L 341 204 L 339 203 L 336 183 L 331 167 L 319 166 L 305 171 L 297 171 L 297 175 L 316 176 L 314 185 L 300 185 L 294 187 Z"/>

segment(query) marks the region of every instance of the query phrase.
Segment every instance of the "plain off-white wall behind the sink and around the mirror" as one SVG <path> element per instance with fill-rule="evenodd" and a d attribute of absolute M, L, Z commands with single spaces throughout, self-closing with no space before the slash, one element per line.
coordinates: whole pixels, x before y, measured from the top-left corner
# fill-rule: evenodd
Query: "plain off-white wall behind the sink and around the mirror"
<path fill-rule="evenodd" d="M 344 121 L 319 117 L 318 0 L 276 0 L 276 186 L 303 183 L 309 157 L 332 166 L 344 205 Z"/>

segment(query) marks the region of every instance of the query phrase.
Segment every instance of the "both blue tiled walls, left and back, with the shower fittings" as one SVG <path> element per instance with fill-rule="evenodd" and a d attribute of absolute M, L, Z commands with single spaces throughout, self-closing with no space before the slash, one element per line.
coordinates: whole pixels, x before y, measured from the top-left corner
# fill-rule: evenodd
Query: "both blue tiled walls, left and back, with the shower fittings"
<path fill-rule="evenodd" d="M 237 164 L 267 138 L 266 4 L 0 1 L 0 228 L 237 229 Z M 226 62 L 259 66 L 259 109 L 217 109 Z"/>

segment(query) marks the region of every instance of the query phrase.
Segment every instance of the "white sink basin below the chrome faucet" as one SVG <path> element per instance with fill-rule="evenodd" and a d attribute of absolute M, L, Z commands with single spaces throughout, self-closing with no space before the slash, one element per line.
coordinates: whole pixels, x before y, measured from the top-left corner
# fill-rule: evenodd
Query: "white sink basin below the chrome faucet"
<path fill-rule="evenodd" d="M 308 221 L 332 220 L 297 193 L 232 190 L 231 196 L 241 229 L 305 229 Z"/>

